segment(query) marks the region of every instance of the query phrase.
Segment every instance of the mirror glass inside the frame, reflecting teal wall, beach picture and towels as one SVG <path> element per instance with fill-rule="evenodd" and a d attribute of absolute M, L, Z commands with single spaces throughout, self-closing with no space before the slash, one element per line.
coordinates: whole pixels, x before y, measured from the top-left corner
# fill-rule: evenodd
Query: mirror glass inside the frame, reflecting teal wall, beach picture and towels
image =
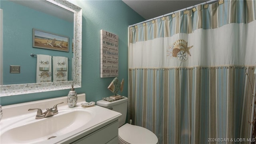
<path fill-rule="evenodd" d="M 0 3 L 4 15 L 3 84 L 36 83 L 38 77 L 39 82 L 53 82 L 62 76 L 60 80 L 72 80 L 74 13 L 44 0 L 2 0 Z M 59 61 L 46 64 L 46 60 L 37 61 L 30 53 L 66 57 L 69 59 L 65 63 L 67 70 L 57 75 L 53 70 L 60 66 Z M 10 65 L 20 66 L 21 72 L 10 73 Z M 48 70 L 38 70 L 37 65 L 48 66 Z"/>

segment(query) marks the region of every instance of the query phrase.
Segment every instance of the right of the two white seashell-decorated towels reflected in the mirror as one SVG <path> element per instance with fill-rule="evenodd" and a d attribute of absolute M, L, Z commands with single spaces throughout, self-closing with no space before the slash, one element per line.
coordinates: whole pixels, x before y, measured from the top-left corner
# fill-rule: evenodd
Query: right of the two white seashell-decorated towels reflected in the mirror
<path fill-rule="evenodd" d="M 63 56 L 53 56 L 53 81 L 68 81 L 68 58 Z"/>

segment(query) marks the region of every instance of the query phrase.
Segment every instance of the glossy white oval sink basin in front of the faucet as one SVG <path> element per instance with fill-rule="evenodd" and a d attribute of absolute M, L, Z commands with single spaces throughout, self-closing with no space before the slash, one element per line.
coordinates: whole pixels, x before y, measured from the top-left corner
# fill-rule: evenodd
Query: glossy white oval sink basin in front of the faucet
<path fill-rule="evenodd" d="M 59 113 L 42 119 L 35 114 L 22 116 L 9 124 L 8 129 L 1 128 L 0 143 L 35 143 L 72 132 L 88 123 L 93 113 L 86 109 L 64 109 Z"/>

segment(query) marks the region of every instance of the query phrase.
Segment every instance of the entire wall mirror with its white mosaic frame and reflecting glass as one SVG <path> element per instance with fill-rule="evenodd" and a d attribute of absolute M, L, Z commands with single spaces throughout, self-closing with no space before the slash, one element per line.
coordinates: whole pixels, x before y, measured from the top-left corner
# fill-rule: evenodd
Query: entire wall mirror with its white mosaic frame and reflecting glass
<path fill-rule="evenodd" d="M 71 84 L 81 87 L 81 8 L 64 0 L 1 0 L 0 7 L 0 96 L 68 89 Z M 35 36 L 33 30 L 44 35 Z M 48 70 L 50 81 L 66 72 L 68 81 L 36 83 L 38 58 L 30 54 L 66 57 L 66 63 L 43 70 Z M 20 73 L 10 73 L 10 65 L 20 66 Z M 62 75 L 53 74 L 53 68 Z"/>

